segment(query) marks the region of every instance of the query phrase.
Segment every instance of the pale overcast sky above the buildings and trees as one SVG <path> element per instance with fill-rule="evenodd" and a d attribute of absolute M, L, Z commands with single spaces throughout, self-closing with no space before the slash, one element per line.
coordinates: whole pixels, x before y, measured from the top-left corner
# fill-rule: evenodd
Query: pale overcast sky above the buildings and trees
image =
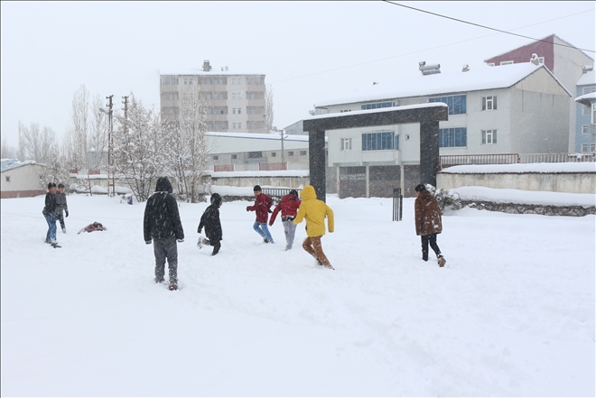
<path fill-rule="evenodd" d="M 535 39 L 554 33 L 595 49 L 595 2 L 396 2 Z M 532 42 L 383 1 L 2 2 L 2 136 L 18 123 L 70 128 L 72 97 L 131 92 L 159 109 L 159 70 L 200 68 L 265 74 L 274 125 L 313 104 L 396 78 L 418 62 L 442 72 Z M 585 51 L 592 59 L 594 52 Z"/>

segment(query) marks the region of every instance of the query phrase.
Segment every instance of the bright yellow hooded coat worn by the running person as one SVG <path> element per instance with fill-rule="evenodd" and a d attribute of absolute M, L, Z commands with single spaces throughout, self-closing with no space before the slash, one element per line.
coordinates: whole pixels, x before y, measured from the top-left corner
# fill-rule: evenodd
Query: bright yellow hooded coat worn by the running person
<path fill-rule="evenodd" d="M 312 185 L 307 185 L 300 192 L 303 202 L 298 208 L 296 218 L 293 219 L 295 225 L 300 224 L 303 218 L 306 218 L 306 235 L 323 236 L 325 235 L 325 216 L 327 217 L 327 228 L 333 232 L 333 210 L 325 202 L 317 199 L 317 193 Z"/>

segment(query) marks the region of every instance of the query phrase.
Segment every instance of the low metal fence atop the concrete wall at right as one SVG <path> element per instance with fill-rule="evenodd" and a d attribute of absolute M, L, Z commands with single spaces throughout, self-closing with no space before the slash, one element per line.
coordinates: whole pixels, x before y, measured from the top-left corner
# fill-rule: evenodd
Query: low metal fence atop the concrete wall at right
<path fill-rule="evenodd" d="M 466 164 L 595 162 L 594 153 L 495 153 L 441 155 L 439 169 Z"/>

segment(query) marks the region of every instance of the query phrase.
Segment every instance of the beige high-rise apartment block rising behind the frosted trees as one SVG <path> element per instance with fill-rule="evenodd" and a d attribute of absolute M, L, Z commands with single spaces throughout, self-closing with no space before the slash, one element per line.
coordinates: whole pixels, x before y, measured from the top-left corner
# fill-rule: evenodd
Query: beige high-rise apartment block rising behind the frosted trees
<path fill-rule="evenodd" d="M 226 133 L 267 133 L 265 124 L 265 75 L 202 69 L 160 71 L 162 116 L 179 116 L 185 89 L 198 85 L 207 102 L 207 129 Z"/>

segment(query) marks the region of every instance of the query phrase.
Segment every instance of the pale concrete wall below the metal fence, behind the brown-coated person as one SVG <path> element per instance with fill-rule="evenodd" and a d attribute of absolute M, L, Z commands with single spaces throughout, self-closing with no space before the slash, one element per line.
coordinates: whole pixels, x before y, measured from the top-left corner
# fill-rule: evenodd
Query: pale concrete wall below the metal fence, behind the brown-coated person
<path fill-rule="evenodd" d="M 450 190 L 459 187 L 593 194 L 596 192 L 596 172 L 437 174 L 437 188 Z"/>

